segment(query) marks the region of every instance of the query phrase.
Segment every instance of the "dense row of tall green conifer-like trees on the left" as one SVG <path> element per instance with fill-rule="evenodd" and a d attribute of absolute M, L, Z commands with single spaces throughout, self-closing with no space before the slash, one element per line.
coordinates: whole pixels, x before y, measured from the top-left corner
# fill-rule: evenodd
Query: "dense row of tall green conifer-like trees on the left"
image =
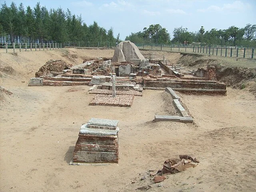
<path fill-rule="evenodd" d="M 40 2 L 26 10 L 22 3 L 10 7 L 6 2 L 0 9 L 0 43 L 47 43 L 47 42 L 115 42 L 113 28 L 106 30 L 97 22 L 87 26 L 82 17 L 72 15 L 62 8 L 47 10 Z"/>

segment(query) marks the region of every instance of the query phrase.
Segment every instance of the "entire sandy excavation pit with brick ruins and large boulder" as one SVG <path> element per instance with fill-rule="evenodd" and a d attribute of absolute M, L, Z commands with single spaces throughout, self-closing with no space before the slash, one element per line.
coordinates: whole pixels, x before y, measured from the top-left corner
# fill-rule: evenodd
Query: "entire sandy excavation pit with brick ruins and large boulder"
<path fill-rule="evenodd" d="M 255 59 L 130 41 L 0 56 L 3 191 L 250 191 Z"/>

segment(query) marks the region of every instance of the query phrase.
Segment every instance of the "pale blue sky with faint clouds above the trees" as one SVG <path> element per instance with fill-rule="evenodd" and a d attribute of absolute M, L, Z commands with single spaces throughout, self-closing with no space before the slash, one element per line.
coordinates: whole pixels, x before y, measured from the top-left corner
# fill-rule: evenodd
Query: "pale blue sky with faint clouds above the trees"
<path fill-rule="evenodd" d="M 94 21 L 106 30 L 111 27 L 121 40 L 131 32 L 142 31 L 151 24 L 160 24 L 172 37 L 174 28 L 188 28 L 190 32 L 242 28 L 256 24 L 256 0 L 0 0 L 0 4 L 11 2 L 18 7 L 34 8 L 36 2 L 50 8 L 69 9 L 72 14 L 82 16 L 88 25 Z"/>

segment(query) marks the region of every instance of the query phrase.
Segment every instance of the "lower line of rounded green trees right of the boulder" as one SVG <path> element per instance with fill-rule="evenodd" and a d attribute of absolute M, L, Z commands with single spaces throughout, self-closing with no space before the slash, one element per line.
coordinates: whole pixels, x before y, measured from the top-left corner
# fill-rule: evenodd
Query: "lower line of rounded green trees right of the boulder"
<path fill-rule="evenodd" d="M 211 29 L 205 31 L 204 26 L 196 32 L 189 32 L 188 28 L 174 28 L 173 38 L 159 24 L 150 25 L 143 31 L 131 33 L 126 36 L 126 40 L 134 43 L 151 43 L 151 44 L 199 44 L 201 46 L 251 46 L 256 47 L 256 25 L 247 24 L 244 28 L 230 26 L 228 29 L 218 30 Z"/>

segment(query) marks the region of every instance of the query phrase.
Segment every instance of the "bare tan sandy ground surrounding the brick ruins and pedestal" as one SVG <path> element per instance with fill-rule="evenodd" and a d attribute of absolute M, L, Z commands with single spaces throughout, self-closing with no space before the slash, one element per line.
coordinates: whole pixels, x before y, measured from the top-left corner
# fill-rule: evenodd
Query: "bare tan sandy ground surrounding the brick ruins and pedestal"
<path fill-rule="evenodd" d="M 195 120 L 185 124 L 152 122 L 155 114 L 176 113 L 164 91 L 144 90 L 131 108 L 121 108 L 88 106 L 94 97 L 88 86 L 27 86 L 49 59 L 79 64 L 82 57 L 108 57 L 113 52 L 0 54 L 0 68 L 14 69 L 2 70 L 0 78 L 0 85 L 13 93 L 0 100 L 1 192 L 123 192 L 147 184 L 152 186 L 148 191 L 256 190 L 256 100 L 246 90 L 228 88 L 225 97 L 179 94 Z M 118 164 L 69 165 L 80 126 L 92 117 L 119 120 Z M 179 154 L 193 154 L 200 163 L 167 176 L 161 187 L 150 178 L 140 180 L 148 170 L 161 169 L 167 158 Z"/>

